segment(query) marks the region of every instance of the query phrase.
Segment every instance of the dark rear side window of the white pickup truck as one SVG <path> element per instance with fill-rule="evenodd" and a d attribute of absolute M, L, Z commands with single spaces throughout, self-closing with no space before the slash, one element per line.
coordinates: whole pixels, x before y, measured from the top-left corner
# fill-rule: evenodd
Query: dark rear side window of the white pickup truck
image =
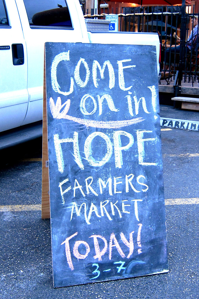
<path fill-rule="evenodd" d="M 31 28 L 35 26 L 72 27 L 65 0 L 24 0 L 24 4 Z"/>

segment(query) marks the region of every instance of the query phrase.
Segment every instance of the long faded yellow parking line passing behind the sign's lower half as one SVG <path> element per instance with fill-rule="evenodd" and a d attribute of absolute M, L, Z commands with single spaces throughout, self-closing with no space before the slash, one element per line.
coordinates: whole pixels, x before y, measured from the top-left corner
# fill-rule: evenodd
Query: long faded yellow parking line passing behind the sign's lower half
<path fill-rule="evenodd" d="M 165 205 L 198 205 L 199 198 L 165 199 Z M 2 205 L 0 212 L 41 211 L 41 205 Z"/>

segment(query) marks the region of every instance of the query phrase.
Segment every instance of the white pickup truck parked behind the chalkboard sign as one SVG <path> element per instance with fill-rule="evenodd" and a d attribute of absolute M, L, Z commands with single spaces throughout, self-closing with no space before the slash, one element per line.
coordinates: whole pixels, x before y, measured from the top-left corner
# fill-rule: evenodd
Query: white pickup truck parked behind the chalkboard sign
<path fill-rule="evenodd" d="M 78 0 L 0 0 L 0 32 L 0 149 L 42 135 L 45 42 L 155 45 L 159 74 L 158 34 L 88 32 Z"/>

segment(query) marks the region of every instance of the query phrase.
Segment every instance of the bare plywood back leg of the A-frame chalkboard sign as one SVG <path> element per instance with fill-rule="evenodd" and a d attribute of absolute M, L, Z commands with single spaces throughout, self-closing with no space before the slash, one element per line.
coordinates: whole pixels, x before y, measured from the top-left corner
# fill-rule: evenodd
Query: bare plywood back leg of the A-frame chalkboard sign
<path fill-rule="evenodd" d="M 44 53 L 44 74 L 43 74 L 43 143 L 42 143 L 41 218 L 42 219 L 50 218 L 45 53 Z"/>

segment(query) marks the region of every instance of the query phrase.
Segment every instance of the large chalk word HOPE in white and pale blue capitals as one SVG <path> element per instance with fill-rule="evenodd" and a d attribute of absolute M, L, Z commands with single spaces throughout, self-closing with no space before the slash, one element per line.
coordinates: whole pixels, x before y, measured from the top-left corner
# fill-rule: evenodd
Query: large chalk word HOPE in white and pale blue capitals
<path fill-rule="evenodd" d="M 128 144 L 125 146 L 122 146 L 121 144 L 121 136 L 126 136 L 128 138 Z M 148 136 L 149 138 L 144 138 L 144 136 Z M 134 142 L 134 137 L 131 133 L 125 132 L 125 131 L 115 131 L 113 133 L 112 142 L 111 138 L 102 132 L 94 132 L 88 135 L 88 137 L 85 139 L 84 143 L 84 154 L 85 158 L 88 161 L 88 163 L 92 166 L 103 166 L 105 165 L 111 158 L 112 154 L 114 153 L 115 157 L 115 167 L 116 168 L 122 168 L 123 165 L 123 154 L 122 151 L 127 151 L 132 146 L 137 147 L 138 151 L 138 163 L 140 165 L 150 166 L 150 165 L 158 165 L 158 161 L 154 161 L 154 157 L 152 158 L 152 161 L 144 161 L 146 151 L 147 151 L 147 144 L 151 142 L 151 146 L 154 147 L 154 152 L 156 151 L 156 142 L 157 137 L 153 137 L 155 133 L 153 131 L 149 130 L 136 130 L 136 141 Z M 94 141 L 94 139 L 102 138 L 105 141 L 106 144 L 106 153 L 104 157 L 101 159 L 101 161 L 96 160 L 93 157 L 92 151 L 91 151 L 91 143 Z M 59 138 L 58 134 L 54 135 L 54 145 L 55 145 L 55 152 L 56 152 L 56 158 L 57 158 L 57 166 L 60 173 L 63 173 L 64 171 L 64 158 L 63 158 L 63 150 L 61 147 L 61 144 L 64 143 L 72 143 L 73 144 L 73 155 L 74 160 L 77 163 L 77 165 L 83 170 L 84 165 L 82 161 L 82 157 L 80 155 L 79 150 L 79 139 L 78 139 L 78 132 L 74 132 L 72 138 Z M 145 146 L 146 144 L 146 146 Z M 151 147 L 149 147 L 151 150 Z"/>

